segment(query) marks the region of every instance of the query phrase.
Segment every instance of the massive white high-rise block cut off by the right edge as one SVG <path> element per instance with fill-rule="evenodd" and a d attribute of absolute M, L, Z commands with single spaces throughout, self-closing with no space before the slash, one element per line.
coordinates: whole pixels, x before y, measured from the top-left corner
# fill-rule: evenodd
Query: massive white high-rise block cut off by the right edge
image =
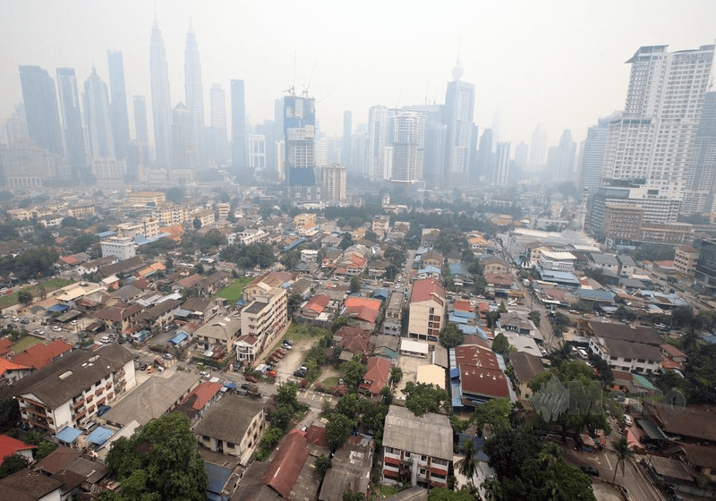
<path fill-rule="evenodd" d="M 626 61 L 626 106 L 621 120 L 609 123 L 601 176 L 645 179 L 651 196 L 684 200 L 714 46 L 667 47 L 640 47 Z"/>

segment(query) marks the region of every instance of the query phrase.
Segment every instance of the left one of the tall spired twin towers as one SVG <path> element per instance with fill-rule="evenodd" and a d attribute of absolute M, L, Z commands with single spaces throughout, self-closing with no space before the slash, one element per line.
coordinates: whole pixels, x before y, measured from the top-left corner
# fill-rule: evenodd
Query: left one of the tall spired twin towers
<path fill-rule="evenodd" d="M 149 46 L 149 79 L 157 165 L 166 168 L 170 164 L 172 152 L 172 98 L 169 94 L 169 69 L 166 65 L 164 41 L 156 18 L 151 29 Z"/>

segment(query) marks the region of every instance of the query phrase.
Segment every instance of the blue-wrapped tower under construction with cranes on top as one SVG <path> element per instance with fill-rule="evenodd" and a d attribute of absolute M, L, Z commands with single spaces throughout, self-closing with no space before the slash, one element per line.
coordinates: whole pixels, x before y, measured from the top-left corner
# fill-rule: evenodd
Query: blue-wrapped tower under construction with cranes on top
<path fill-rule="evenodd" d="M 316 183 L 316 100 L 303 96 L 284 98 L 286 138 L 286 186 L 297 202 L 320 200 Z"/>

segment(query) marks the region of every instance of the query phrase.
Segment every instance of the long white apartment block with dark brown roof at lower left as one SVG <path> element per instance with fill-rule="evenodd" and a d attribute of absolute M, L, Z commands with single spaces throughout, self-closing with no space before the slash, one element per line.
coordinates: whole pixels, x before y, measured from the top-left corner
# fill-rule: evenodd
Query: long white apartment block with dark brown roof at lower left
<path fill-rule="evenodd" d="M 94 352 L 75 350 L 10 386 L 21 420 L 56 435 L 81 428 L 98 408 L 136 386 L 131 352 L 106 344 Z"/>

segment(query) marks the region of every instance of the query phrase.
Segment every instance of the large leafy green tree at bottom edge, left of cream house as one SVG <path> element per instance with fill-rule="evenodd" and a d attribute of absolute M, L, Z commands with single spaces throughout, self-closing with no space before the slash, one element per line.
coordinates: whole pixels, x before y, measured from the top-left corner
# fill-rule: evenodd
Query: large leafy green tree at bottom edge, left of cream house
<path fill-rule="evenodd" d="M 181 412 L 150 421 L 130 438 L 115 441 L 107 468 L 121 490 L 110 500 L 184 499 L 203 501 L 209 477 L 191 423 Z"/>

